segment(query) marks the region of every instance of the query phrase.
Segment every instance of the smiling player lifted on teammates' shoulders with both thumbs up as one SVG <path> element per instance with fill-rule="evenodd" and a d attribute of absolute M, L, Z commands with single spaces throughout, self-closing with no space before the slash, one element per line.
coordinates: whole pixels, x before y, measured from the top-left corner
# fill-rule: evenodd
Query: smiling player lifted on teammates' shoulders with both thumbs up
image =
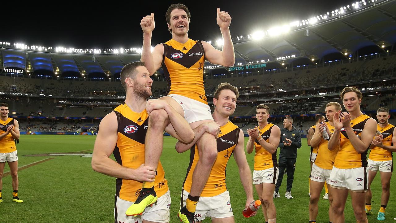
<path fill-rule="evenodd" d="M 215 15 L 215 13 L 213 13 Z M 217 25 L 223 35 L 223 51 L 213 48 L 204 41 L 188 38 L 190 27 L 190 12 L 183 4 L 172 4 L 166 12 L 168 29 L 172 39 L 164 44 L 158 44 L 151 52 L 151 36 L 155 27 L 154 13 L 143 17 L 143 49 L 141 61 L 146 63 L 150 75 L 160 67 L 168 82 L 167 96 L 160 98 L 168 102 L 177 113 L 184 117 L 195 129 L 204 122 L 213 122 L 204 88 L 204 63 L 232 66 L 235 63 L 234 47 L 232 45 L 229 26 L 231 16 L 217 8 Z M 155 104 L 155 102 L 153 103 Z M 163 131 L 171 128 L 169 115 L 164 110 L 154 110 L 148 120 L 147 138 L 145 140 L 145 165 L 157 169 L 163 149 Z M 191 130 L 192 131 L 192 130 Z M 194 138 L 191 136 L 190 143 Z M 194 222 L 196 204 L 202 190 L 208 181 L 210 170 L 217 158 L 216 136 L 204 133 L 197 141 L 200 159 L 192 174 L 192 186 L 186 200 L 186 206 L 179 211 L 179 218 L 184 223 Z M 137 215 L 147 206 L 156 201 L 154 182 L 143 182 L 139 198 L 126 212 L 126 215 Z"/>

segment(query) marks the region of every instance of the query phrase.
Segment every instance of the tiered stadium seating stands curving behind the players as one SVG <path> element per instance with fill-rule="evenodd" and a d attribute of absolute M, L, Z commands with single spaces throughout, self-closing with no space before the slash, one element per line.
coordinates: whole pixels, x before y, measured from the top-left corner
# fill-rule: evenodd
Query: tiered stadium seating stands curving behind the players
<path fill-rule="evenodd" d="M 396 87 L 396 55 L 379 57 L 379 55 L 345 60 L 320 65 L 294 67 L 276 71 L 230 72 L 228 75 L 204 76 L 208 102 L 213 112 L 211 97 L 222 82 L 229 82 L 240 91 L 240 98 L 233 114 L 234 117 L 255 115 L 257 104 L 270 107 L 271 115 L 301 115 L 324 113 L 330 101 L 339 100 L 339 92 L 346 83 L 363 82 L 359 88 L 370 89 L 364 95 L 362 111 L 372 112 L 379 107 L 396 109 L 394 88 Z M 391 78 L 388 81 L 382 79 Z M 393 79 L 392 79 L 393 78 Z M 168 83 L 156 81 L 152 84 L 152 98 L 165 94 Z M 160 79 L 158 79 L 160 80 Z M 372 81 L 377 80 L 375 83 Z M 339 87 L 329 87 L 339 85 Z M 257 87 L 259 86 L 259 87 Z M 323 86 L 322 88 L 320 88 Z M 305 88 L 302 90 L 302 88 Z M 318 88 L 314 90 L 314 88 Z M 320 89 L 319 89 L 320 88 Z M 390 89 L 390 90 L 388 90 Z M 392 90 L 393 89 L 393 90 Z M 287 90 L 286 93 L 284 91 Z M 0 92 L 9 93 L 2 97 L 2 102 L 10 105 L 10 112 L 18 116 L 42 117 L 84 117 L 88 119 L 104 117 L 124 99 L 124 89 L 118 80 L 103 81 L 94 79 L 64 79 L 44 77 L 0 76 Z M 319 93 L 332 94 L 330 97 L 317 97 Z M 15 94 L 19 94 L 15 96 Z M 28 94 L 28 95 L 26 95 Z M 32 94 L 30 96 L 30 94 Z M 316 96 L 304 98 L 304 96 Z M 292 97 L 293 99 L 285 99 Z M 246 133 L 247 128 L 254 127 L 255 119 L 236 119 L 238 126 Z M 281 128 L 283 119 L 274 119 Z M 312 120 L 299 119 L 297 129 L 306 133 Z M 51 123 L 34 123 L 35 129 L 65 129 L 75 131 L 68 125 L 61 128 L 51 127 Z M 40 125 L 39 125 L 40 124 Z M 41 127 L 40 127 L 41 126 Z M 33 128 L 33 127 L 32 127 Z M 95 129 L 97 127 L 93 127 Z"/>

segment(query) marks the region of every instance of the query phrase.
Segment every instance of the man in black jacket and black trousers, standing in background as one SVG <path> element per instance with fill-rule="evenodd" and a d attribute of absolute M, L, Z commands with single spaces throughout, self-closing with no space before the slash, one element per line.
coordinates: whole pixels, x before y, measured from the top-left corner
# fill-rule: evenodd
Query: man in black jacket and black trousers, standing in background
<path fill-rule="evenodd" d="M 280 130 L 280 154 L 279 154 L 279 177 L 276 182 L 274 198 L 279 198 L 279 188 L 282 184 L 285 168 L 287 168 L 287 184 L 285 197 L 291 196 L 291 186 L 293 185 L 294 170 L 297 160 L 297 148 L 301 148 L 301 133 L 293 127 L 293 118 L 286 117 L 283 120 L 283 129 Z"/>

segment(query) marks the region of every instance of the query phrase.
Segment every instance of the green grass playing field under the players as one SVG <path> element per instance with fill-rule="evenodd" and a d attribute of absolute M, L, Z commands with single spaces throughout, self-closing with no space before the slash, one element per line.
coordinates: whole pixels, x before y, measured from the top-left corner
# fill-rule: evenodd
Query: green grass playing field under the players
<path fill-rule="evenodd" d="M 66 153 L 86 151 L 91 153 L 96 136 L 74 135 L 21 135 L 17 144 L 19 167 L 29 165 L 49 156 L 26 156 L 30 154 Z M 247 139 L 245 140 L 245 142 Z M 177 211 L 180 204 L 181 185 L 188 165 L 189 152 L 178 154 L 174 149 L 175 139 L 166 137 L 164 152 L 161 157 L 171 191 L 171 223 L 179 222 Z M 278 151 L 279 152 L 279 151 Z M 254 154 L 247 154 L 247 161 L 253 168 Z M 292 189 L 293 199 L 284 197 L 286 175 L 280 188 L 280 198 L 274 200 L 277 209 L 277 222 L 308 222 L 308 175 L 309 148 L 306 139 L 299 149 Z M 51 156 L 53 159 L 20 170 L 19 197 L 24 203 L 12 202 L 11 176 L 3 177 L 2 197 L 0 203 L 0 222 L 114 222 L 115 179 L 96 173 L 91 168 L 91 158 L 82 156 Z M 8 172 L 6 165 L 4 172 Z M 391 190 L 395 188 L 395 177 Z M 231 195 L 231 205 L 236 222 L 264 222 L 261 210 L 255 217 L 246 219 L 242 216 L 246 197 L 239 179 L 238 169 L 233 158 L 227 166 L 227 188 Z M 254 188 L 253 188 L 254 189 Z M 373 185 L 373 211 L 376 213 L 381 205 L 381 182 L 379 175 Z M 324 191 L 322 192 L 322 196 Z M 257 193 L 255 193 L 257 198 Z M 391 194 L 386 220 L 395 222 L 396 196 Z M 328 201 L 320 199 L 318 222 L 328 222 Z M 377 215 L 369 216 L 369 222 L 377 221 Z M 203 222 L 210 222 L 209 219 Z M 345 210 L 345 222 L 356 222 L 350 198 Z"/>

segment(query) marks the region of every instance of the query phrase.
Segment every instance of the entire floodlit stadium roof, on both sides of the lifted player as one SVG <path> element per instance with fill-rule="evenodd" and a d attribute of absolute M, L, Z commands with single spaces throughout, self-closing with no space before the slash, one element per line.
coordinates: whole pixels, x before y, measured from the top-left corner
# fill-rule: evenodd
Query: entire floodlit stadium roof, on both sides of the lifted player
<path fill-rule="evenodd" d="M 361 0 L 356 3 L 353 5 L 360 8 L 348 5 L 343 7 L 345 12 L 340 8 L 339 12 L 333 11 L 331 15 L 328 12 L 328 16 L 324 14 L 297 21 L 291 31 L 261 31 L 259 39 L 255 38 L 255 34 L 233 38 L 235 65 L 282 63 L 286 60 L 290 63 L 301 58 L 320 60 L 334 53 L 356 56 L 358 50 L 367 46 L 393 46 L 396 42 L 396 1 Z M 54 50 L 46 47 L 44 50 L 40 46 L 13 45 L 0 42 L 2 72 L 5 68 L 15 68 L 19 69 L 17 73 L 46 70 L 63 74 L 72 71 L 106 77 L 108 74 L 118 74 L 126 63 L 140 60 L 139 49 L 132 48 L 107 50 L 105 53 L 105 50 L 96 49 Z M 213 45 L 218 49 L 222 47 L 217 42 Z M 41 50 L 44 52 L 39 52 Z"/>

